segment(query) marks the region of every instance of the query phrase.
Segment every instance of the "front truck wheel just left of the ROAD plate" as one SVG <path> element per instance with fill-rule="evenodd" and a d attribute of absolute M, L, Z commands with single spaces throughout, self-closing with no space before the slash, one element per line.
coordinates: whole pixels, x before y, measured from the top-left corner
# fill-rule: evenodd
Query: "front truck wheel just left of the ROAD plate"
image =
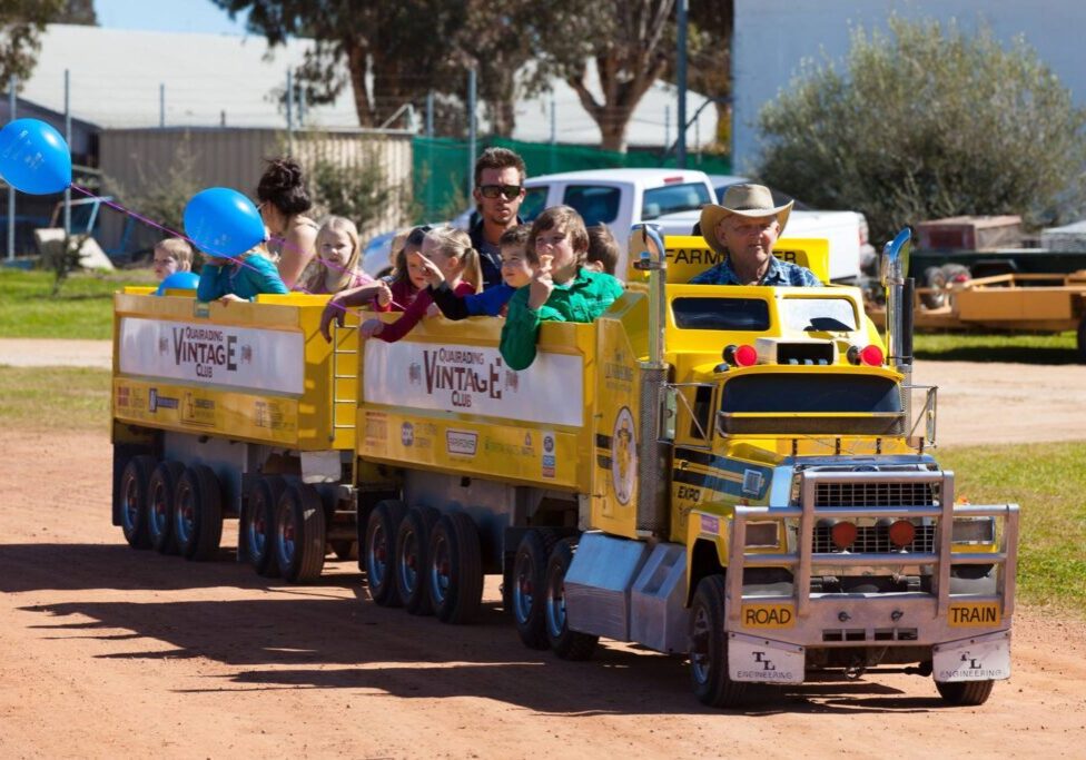
<path fill-rule="evenodd" d="M 694 695 L 713 708 L 738 707 L 746 685 L 728 674 L 724 576 L 701 579 L 690 606 L 690 679 Z"/>

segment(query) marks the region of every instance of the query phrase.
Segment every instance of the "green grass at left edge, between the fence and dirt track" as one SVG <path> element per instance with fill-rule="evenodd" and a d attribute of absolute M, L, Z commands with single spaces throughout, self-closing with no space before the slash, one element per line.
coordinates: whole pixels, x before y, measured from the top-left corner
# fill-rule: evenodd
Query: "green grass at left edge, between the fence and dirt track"
<path fill-rule="evenodd" d="M 0 337 L 110 338 L 113 292 L 125 285 L 151 285 L 154 279 L 149 269 L 80 273 L 52 297 L 52 273 L 0 269 Z"/>

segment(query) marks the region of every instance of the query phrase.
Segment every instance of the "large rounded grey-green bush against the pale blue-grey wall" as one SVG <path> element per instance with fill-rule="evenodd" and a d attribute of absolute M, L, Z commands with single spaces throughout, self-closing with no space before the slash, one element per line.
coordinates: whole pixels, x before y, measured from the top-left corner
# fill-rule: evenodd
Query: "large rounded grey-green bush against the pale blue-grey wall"
<path fill-rule="evenodd" d="M 845 72 L 809 65 L 767 106 L 759 176 L 875 239 L 960 214 L 1046 224 L 1080 208 L 1086 112 L 1021 38 L 889 20 L 852 34 Z"/>

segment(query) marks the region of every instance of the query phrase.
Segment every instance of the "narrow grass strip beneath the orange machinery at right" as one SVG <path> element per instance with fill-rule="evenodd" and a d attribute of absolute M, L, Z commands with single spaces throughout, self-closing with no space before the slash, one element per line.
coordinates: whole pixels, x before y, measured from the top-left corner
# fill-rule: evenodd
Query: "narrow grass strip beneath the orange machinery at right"
<path fill-rule="evenodd" d="M 1075 333 L 1055 335 L 921 333 L 912 339 L 918 359 L 942 362 L 1015 362 L 1020 364 L 1078 364 Z"/>

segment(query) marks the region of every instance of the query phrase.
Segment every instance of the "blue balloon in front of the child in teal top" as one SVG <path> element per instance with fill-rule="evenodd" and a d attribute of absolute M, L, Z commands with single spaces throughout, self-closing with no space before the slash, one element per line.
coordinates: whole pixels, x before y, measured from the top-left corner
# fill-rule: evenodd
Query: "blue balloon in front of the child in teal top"
<path fill-rule="evenodd" d="M 185 206 L 185 234 L 206 254 L 233 257 L 264 240 L 264 220 L 237 190 L 213 187 Z"/>

